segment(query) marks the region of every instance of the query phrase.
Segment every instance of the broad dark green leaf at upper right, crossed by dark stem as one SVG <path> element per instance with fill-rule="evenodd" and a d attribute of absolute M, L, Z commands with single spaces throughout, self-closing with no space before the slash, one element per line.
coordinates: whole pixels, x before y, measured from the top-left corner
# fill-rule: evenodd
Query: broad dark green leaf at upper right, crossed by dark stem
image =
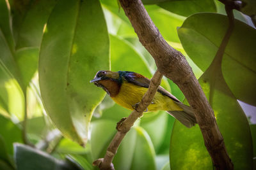
<path fill-rule="evenodd" d="M 189 17 L 180 27 L 178 33 L 182 46 L 203 71 L 211 64 L 227 26 L 224 15 L 200 13 Z M 234 96 L 253 105 L 256 105 L 255 39 L 255 29 L 235 20 L 234 31 L 221 64 L 225 81 Z"/>

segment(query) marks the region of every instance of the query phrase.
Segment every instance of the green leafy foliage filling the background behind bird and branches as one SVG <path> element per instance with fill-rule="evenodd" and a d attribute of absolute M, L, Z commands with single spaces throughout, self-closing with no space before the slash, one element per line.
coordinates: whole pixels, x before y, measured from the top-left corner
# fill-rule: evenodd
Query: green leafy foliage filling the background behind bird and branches
<path fill-rule="evenodd" d="M 234 11 L 221 64 L 212 60 L 228 27 L 223 4 L 143 3 L 200 81 L 235 169 L 256 169 L 256 31 L 248 17 L 256 14 L 255 1 L 246 0 L 246 15 Z M 89 81 L 101 69 L 150 78 L 154 60 L 117 1 L 0 0 L 0 11 L 0 169 L 96 169 L 93 160 L 104 157 L 116 122 L 131 111 Z M 171 80 L 161 85 L 184 101 Z M 198 125 L 188 129 L 164 111 L 136 122 L 113 164 L 213 168 Z"/>

